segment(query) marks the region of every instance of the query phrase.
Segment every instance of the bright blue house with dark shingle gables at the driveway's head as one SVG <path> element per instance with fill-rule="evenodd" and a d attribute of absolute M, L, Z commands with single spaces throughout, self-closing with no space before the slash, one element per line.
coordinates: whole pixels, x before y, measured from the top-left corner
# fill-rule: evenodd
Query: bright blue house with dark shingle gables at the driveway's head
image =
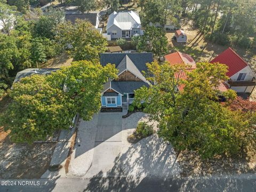
<path fill-rule="evenodd" d="M 134 90 L 151 84 L 142 75 L 147 71 L 146 63 L 153 62 L 152 53 L 101 53 L 100 63 L 116 65 L 117 79 L 110 79 L 105 85 L 101 96 L 102 107 L 123 107 L 132 103 Z"/>

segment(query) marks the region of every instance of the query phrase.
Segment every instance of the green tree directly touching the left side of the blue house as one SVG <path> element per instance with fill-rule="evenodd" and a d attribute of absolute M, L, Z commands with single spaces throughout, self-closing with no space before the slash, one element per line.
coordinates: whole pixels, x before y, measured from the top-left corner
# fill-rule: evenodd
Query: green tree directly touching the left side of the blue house
<path fill-rule="evenodd" d="M 101 91 L 109 78 L 116 78 L 115 65 L 102 67 L 98 61 L 76 61 L 51 75 L 53 86 L 64 85 L 72 98 L 75 109 L 86 121 L 98 113 L 101 107 Z"/>

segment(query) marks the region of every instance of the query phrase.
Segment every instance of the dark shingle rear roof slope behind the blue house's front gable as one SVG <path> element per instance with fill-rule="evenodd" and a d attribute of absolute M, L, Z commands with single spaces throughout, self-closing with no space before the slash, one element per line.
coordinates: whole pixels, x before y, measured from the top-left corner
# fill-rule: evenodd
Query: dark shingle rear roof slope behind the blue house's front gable
<path fill-rule="evenodd" d="M 147 71 L 146 63 L 153 62 L 152 53 L 100 53 L 100 63 L 102 66 L 106 66 L 108 63 L 118 66 L 126 55 L 140 72 Z"/>

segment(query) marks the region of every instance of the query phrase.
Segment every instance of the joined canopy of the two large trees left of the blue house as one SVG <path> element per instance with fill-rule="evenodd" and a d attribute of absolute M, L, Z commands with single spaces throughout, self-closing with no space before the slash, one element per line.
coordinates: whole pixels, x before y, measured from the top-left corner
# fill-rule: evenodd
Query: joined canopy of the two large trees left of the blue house
<path fill-rule="evenodd" d="M 77 61 L 51 75 L 22 78 L 9 92 L 12 102 L 1 122 L 13 141 L 45 140 L 68 129 L 76 113 L 90 120 L 100 109 L 103 84 L 116 74 L 114 65 Z"/>

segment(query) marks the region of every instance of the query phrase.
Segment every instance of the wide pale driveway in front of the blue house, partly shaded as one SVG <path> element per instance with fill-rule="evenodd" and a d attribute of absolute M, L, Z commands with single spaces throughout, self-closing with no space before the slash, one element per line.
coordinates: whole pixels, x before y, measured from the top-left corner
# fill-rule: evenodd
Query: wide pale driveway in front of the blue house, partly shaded
<path fill-rule="evenodd" d="M 168 177 L 179 175 L 176 154 L 156 134 L 138 143 L 127 137 L 139 121 L 148 121 L 144 113 L 122 118 L 124 113 L 99 113 L 92 121 L 81 121 L 69 165 L 69 176 L 94 177 Z"/>

